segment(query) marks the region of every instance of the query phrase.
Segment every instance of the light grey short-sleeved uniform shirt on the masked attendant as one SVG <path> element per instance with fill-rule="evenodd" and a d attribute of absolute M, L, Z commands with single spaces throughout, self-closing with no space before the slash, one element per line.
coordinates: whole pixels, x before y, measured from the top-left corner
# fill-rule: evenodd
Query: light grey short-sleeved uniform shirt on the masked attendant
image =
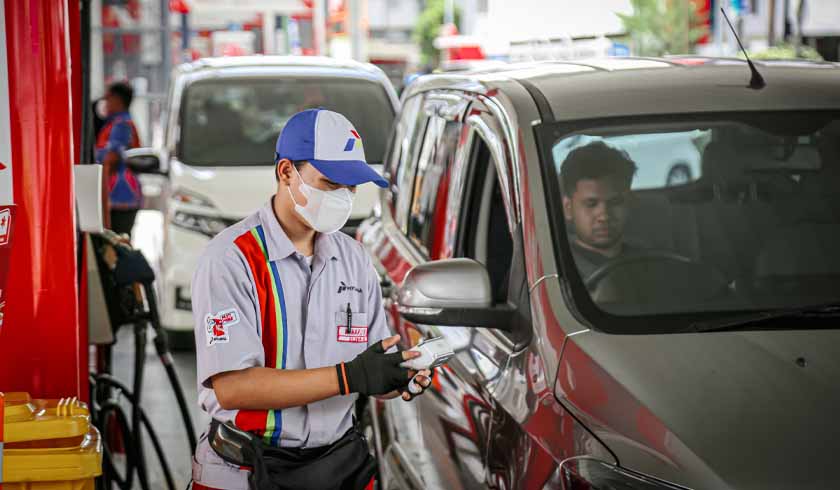
<path fill-rule="evenodd" d="M 286 236 L 269 201 L 213 238 L 193 276 L 198 401 L 211 417 L 223 422 L 235 423 L 238 412 L 219 405 L 211 377 L 266 365 L 262 332 L 268 326 L 261 321 L 261 286 L 254 280 L 249 257 L 237 243 L 239 237 L 252 233 L 258 225 L 264 232 L 269 264 L 276 266 L 282 283 L 286 306 L 285 369 L 318 368 L 349 361 L 369 345 L 390 336 L 379 278 L 362 245 L 340 232 L 319 234 L 310 267 Z M 349 332 L 348 304 L 352 316 Z M 355 394 L 335 396 L 279 411 L 279 445 L 319 447 L 336 441 L 353 423 L 356 398 Z M 230 475 L 225 475 L 230 472 L 240 473 L 235 480 L 244 482 L 243 472 L 218 458 L 205 440 L 196 451 L 195 463 L 193 476 L 207 486 L 239 487 L 227 478 Z M 228 486 L 218 486 L 221 484 Z M 245 485 L 243 488 L 247 488 Z"/>

